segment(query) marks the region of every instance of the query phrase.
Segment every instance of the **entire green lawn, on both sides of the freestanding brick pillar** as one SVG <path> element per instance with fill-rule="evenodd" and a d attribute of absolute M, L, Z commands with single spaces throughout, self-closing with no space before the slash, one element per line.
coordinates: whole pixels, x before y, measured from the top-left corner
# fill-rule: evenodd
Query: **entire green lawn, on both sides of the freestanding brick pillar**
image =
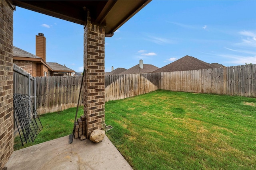
<path fill-rule="evenodd" d="M 256 98 L 157 90 L 106 102 L 105 111 L 114 127 L 106 135 L 134 170 L 256 169 Z M 41 116 L 34 143 L 69 135 L 75 113 Z"/>

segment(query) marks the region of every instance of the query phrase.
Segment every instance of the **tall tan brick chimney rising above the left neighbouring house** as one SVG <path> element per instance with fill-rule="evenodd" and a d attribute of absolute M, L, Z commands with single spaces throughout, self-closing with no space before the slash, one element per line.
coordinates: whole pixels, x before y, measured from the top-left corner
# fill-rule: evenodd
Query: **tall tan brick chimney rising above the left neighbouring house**
<path fill-rule="evenodd" d="M 36 56 L 41 57 L 46 62 L 46 38 L 43 33 L 36 35 Z"/>

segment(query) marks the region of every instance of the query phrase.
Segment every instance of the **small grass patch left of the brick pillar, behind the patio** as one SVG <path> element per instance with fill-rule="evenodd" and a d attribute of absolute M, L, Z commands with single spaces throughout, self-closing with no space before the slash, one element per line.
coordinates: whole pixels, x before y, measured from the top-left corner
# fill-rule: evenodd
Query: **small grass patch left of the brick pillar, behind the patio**
<path fill-rule="evenodd" d="M 77 113 L 78 118 L 80 117 L 80 115 L 83 114 L 83 107 L 79 107 Z M 17 136 L 14 138 L 14 150 L 30 147 L 38 143 L 43 143 L 46 141 L 50 141 L 52 139 L 70 135 L 73 130 L 75 115 L 76 107 L 66 109 L 60 112 L 47 113 L 41 115 L 39 119 L 43 125 L 43 129 L 37 135 L 34 143 L 29 142 L 22 146 L 20 137 Z"/>

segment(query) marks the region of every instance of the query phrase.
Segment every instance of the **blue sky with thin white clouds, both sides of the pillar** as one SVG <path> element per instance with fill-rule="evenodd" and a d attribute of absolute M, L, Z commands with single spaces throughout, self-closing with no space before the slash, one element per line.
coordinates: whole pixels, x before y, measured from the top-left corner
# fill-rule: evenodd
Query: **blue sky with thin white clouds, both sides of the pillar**
<path fill-rule="evenodd" d="M 153 0 L 105 38 L 105 71 L 140 59 L 161 68 L 186 55 L 225 66 L 256 64 L 255 9 L 255 0 Z M 35 35 L 44 33 L 46 61 L 82 72 L 83 28 L 16 7 L 13 44 L 35 54 Z"/>

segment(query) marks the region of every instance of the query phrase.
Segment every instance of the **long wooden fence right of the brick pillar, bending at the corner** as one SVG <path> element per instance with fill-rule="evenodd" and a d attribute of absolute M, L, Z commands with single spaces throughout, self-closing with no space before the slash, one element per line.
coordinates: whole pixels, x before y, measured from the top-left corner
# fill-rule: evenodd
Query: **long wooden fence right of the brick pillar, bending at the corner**
<path fill-rule="evenodd" d="M 157 89 L 256 97 L 256 64 L 176 72 L 105 76 L 106 101 Z"/>

